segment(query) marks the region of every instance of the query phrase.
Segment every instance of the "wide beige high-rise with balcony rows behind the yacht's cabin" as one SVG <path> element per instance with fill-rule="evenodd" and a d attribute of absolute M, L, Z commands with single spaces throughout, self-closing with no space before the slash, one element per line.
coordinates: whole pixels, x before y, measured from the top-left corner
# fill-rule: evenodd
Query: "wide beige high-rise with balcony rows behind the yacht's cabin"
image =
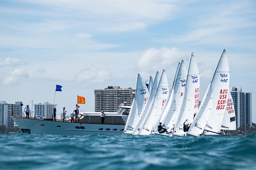
<path fill-rule="evenodd" d="M 132 100 L 136 90 L 129 87 L 122 89 L 119 86 L 108 86 L 105 89 L 94 90 L 94 111 L 95 112 L 116 112 L 118 106 L 124 103 L 126 106 L 132 105 Z"/>

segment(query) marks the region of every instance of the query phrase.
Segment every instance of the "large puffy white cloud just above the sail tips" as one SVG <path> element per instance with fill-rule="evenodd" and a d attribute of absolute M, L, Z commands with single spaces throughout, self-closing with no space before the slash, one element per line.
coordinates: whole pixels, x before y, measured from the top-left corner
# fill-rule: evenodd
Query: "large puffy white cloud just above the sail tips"
<path fill-rule="evenodd" d="M 136 65 L 143 71 L 163 70 L 177 64 L 184 57 L 185 54 L 178 48 L 149 48 L 140 56 Z"/>

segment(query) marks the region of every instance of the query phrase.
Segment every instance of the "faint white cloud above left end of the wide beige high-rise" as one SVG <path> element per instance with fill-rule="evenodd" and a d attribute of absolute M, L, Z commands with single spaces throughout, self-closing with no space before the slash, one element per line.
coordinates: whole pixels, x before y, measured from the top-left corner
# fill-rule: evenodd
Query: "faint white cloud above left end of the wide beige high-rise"
<path fill-rule="evenodd" d="M 100 70 L 95 67 L 85 68 L 76 74 L 77 81 L 88 80 L 89 82 L 99 83 L 110 78 L 110 73 L 106 70 Z"/>

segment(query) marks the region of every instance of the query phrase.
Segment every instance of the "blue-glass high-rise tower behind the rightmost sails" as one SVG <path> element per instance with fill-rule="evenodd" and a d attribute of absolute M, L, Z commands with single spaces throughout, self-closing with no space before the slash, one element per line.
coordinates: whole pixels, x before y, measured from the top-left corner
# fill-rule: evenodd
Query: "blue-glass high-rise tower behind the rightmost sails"
<path fill-rule="evenodd" d="M 242 92 L 242 87 L 229 87 L 235 107 L 236 127 L 250 124 L 252 126 L 252 93 Z"/>

